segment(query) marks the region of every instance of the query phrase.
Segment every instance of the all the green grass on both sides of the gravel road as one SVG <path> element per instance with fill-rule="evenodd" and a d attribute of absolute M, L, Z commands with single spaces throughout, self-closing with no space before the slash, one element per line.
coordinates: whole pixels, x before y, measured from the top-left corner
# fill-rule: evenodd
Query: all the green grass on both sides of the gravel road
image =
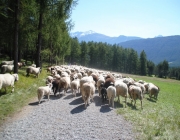
<path fill-rule="evenodd" d="M 45 77 L 48 75 L 44 68 L 39 76 L 26 77 L 26 68 L 19 70 L 19 81 L 15 83 L 14 93 L 11 88 L 0 90 L 0 124 L 8 117 L 20 111 L 30 100 L 37 97 L 36 90 L 39 86 L 45 85 Z M 117 113 L 124 116 L 136 132 L 137 139 L 180 139 L 180 81 L 128 75 L 136 80 L 152 82 L 160 87 L 158 100 L 150 99 L 146 94 L 143 99 L 143 109 L 140 101 L 137 100 L 136 107 L 127 100 L 127 107 L 124 107 L 124 98 L 120 97 L 120 103 L 115 99 Z"/>

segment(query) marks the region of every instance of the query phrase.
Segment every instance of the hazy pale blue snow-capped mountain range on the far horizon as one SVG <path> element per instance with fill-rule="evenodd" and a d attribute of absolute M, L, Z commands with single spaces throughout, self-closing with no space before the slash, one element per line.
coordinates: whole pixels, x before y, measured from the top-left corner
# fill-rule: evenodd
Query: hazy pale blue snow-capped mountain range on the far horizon
<path fill-rule="evenodd" d="M 70 35 L 71 37 L 77 37 L 79 42 L 94 41 L 94 42 L 106 42 L 108 44 L 117 44 L 120 42 L 129 41 L 129 40 L 142 39 L 140 37 L 123 36 L 123 35 L 120 35 L 118 37 L 110 37 L 110 36 L 106 36 L 100 33 L 96 33 L 92 30 L 87 31 L 87 32 L 74 32 L 74 33 L 71 33 Z"/>

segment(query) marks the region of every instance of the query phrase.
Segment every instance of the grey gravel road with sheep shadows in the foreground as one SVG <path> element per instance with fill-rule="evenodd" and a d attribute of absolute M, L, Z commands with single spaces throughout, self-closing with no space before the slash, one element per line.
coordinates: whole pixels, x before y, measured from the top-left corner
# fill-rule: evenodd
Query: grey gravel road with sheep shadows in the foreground
<path fill-rule="evenodd" d="M 50 96 L 38 106 L 30 102 L 15 119 L 1 127 L 0 140 L 133 140 L 132 126 L 116 109 L 102 104 L 97 92 L 84 108 L 80 94 Z M 116 104 L 115 104 L 116 107 Z M 123 108 L 122 108 L 123 109 Z"/>

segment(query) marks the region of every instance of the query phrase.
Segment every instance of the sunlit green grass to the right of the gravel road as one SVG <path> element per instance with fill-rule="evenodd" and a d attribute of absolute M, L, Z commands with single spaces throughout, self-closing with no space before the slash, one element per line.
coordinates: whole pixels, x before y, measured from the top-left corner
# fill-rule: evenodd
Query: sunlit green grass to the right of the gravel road
<path fill-rule="evenodd" d="M 160 87 L 157 101 L 150 100 L 148 95 L 145 96 L 143 110 L 140 108 L 139 100 L 134 108 L 129 99 L 127 108 L 117 110 L 118 114 L 133 124 L 134 131 L 139 134 L 137 139 L 180 139 L 180 82 L 155 77 L 132 77 L 152 82 Z"/>

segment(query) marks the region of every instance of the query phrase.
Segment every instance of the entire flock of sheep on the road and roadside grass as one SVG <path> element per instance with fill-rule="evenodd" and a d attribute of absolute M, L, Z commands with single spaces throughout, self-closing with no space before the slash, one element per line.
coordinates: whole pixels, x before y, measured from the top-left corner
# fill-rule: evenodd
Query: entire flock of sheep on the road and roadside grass
<path fill-rule="evenodd" d="M 12 72 L 8 69 L 11 65 L 13 65 L 13 61 L 3 61 L 1 63 L 1 73 L 3 74 L 0 74 L 0 89 L 11 86 L 13 92 L 14 82 L 18 80 L 18 74 L 7 73 Z M 23 65 L 21 64 L 21 66 Z M 36 68 L 34 64 L 26 68 L 26 76 L 33 74 L 38 77 L 40 72 L 41 68 Z M 51 66 L 47 68 L 47 72 L 49 76 L 46 77 L 46 86 L 41 86 L 37 89 L 39 104 L 44 95 L 47 95 L 49 100 L 50 94 L 57 96 L 58 92 L 60 95 L 60 91 L 64 90 L 64 95 L 66 95 L 67 90 L 70 88 L 74 96 L 78 92 L 81 93 L 86 108 L 90 100 L 94 101 L 93 97 L 97 89 L 102 102 L 109 100 L 109 105 L 112 105 L 112 107 L 114 107 L 114 98 L 118 97 L 120 102 L 120 96 L 122 96 L 125 98 L 125 107 L 127 98 L 130 98 L 131 104 L 134 102 L 134 106 L 136 100 L 139 99 L 142 108 L 144 94 L 149 94 L 150 98 L 154 97 L 157 99 L 160 91 L 159 87 L 153 83 L 147 83 L 142 80 L 135 81 L 121 74 L 83 66 Z"/>

